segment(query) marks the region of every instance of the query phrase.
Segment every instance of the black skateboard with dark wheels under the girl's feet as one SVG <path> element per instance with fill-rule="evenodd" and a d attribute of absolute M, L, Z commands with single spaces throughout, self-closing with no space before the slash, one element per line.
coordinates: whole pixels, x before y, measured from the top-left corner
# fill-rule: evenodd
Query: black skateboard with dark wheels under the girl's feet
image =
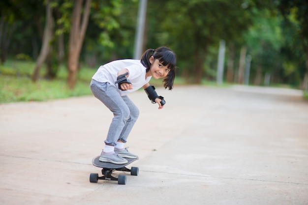
<path fill-rule="evenodd" d="M 130 172 L 130 175 L 138 176 L 139 172 L 138 167 L 131 167 L 131 169 L 126 168 L 127 165 L 139 159 L 138 157 L 136 159 L 125 158 L 128 161 L 126 164 L 113 164 L 110 162 L 100 162 L 99 157 L 100 156 L 94 157 L 92 159 L 92 164 L 95 167 L 103 168 L 101 170 L 103 176 L 98 176 L 98 174 L 96 173 L 91 173 L 90 182 L 97 183 L 98 179 L 101 179 L 101 180 L 118 181 L 118 184 L 126 184 L 126 176 L 125 175 L 119 175 L 118 177 L 112 176 L 111 174 L 114 171 Z"/>

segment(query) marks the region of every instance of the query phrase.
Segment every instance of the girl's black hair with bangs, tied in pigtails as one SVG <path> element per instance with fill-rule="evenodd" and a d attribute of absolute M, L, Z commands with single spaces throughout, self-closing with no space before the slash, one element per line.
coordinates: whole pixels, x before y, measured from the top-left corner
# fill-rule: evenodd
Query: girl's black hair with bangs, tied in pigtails
<path fill-rule="evenodd" d="M 142 57 L 141 57 L 141 63 L 147 68 L 146 72 L 150 70 L 151 63 L 150 58 L 154 57 L 154 59 L 158 59 L 161 64 L 164 66 L 168 66 L 170 69 L 167 76 L 164 78 L 164 88 L 169 88 L 171 90 L 173 88 L 173 82 L 175 78 L 175 70 L 176 70 L 176 62 L 177 57 L 175 53 L 167 48 L 167 47 L 159 47 L 157 49 L 148 49 L 146 50 Z"/>

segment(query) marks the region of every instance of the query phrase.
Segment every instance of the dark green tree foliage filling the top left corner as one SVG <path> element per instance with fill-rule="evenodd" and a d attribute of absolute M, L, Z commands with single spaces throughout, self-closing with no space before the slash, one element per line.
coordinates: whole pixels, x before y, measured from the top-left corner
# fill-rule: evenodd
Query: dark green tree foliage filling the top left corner
<path fill-rule="evenodd" d="M 40 19 L 44 15 L 41 0 L 0 1 L 0 58 L 37 56 L 37 39 L 42 38 Z"/>

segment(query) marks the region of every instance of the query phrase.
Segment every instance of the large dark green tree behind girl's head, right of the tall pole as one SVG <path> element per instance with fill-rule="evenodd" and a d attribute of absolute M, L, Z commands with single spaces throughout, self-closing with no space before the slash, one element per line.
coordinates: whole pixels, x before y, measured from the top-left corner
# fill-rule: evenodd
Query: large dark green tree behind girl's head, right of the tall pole
<path fill-rule="evenodd" d="M 158 7 L 152 12 L 160 11 Z M 152 35 L 156 42 L 169 44 L 179 59 L 185 59 L 180 60 L 180 66 L 193 74 L 194 83 L 201 83 L 206 60 L 220 39 L 234 41 L 251 22 L 249 9 L 241 0 L 168 0 L 162 9 L 161 15 L 154 17 L 161 22 L 155 29 L 163 31 Z"/>

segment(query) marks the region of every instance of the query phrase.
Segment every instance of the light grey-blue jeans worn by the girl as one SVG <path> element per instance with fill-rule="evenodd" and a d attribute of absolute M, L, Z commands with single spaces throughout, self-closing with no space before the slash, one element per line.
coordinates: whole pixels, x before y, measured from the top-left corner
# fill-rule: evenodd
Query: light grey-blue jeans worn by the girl
<path fill-rule="evenodd" d="M 92 79 L 90 88 L 93 95 L 104 103 L 114 116 L 104 142 L 113 146 L 118 140 L 126 143 L 139 116 L 138 108 L 128 96 L 121 96 L 117 88 L 109 83 L 100 83 Z"/>

